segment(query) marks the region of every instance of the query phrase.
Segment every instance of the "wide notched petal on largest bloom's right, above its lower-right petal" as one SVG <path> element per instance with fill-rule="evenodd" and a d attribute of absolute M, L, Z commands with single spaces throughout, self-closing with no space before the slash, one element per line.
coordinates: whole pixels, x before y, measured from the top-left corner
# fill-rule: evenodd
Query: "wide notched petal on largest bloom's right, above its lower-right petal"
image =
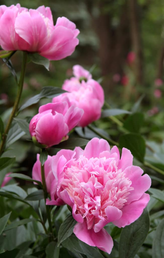
<path fill-rule="evenodd" d="M 134 188 L 128 196 L 127 205 L 132 201 L 140 199 L 143 193 L 150 188 L 151 178 L 147 174 L 141 176 L 143 174 L 143 170 L 138 166 L 127 167 L 124 172 L 125 176 L 132 181 L 131 187 Z"/>

